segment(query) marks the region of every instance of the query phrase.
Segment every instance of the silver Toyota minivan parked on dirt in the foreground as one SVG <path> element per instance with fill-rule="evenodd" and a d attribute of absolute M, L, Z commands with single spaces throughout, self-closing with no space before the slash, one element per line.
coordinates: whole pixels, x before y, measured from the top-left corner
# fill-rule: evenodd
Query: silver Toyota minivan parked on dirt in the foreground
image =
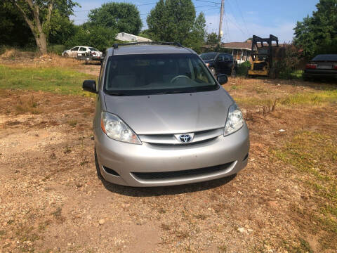
<path fill-rule="evenodd" d="M 171 186 L 243 169 L 249 130 L 241 110 L 190 48 L 114 44 L 98 85 L 93 131 L 98 177 L 125 186 Z"/>

